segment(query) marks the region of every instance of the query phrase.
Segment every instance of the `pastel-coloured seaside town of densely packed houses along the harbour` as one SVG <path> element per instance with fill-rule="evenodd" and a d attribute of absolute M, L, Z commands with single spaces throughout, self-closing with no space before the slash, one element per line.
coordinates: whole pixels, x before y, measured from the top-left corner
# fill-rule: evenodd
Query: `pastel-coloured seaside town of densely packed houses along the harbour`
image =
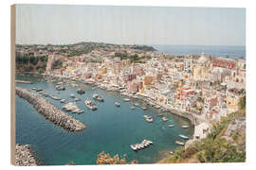
<path fill-rule="evenodd" d="M 26 67 L 26 62 L 35 64 Z M 239 101 L 246 93 L 244 59 L 204 53 L 160 54 L 146 45 L 16 45 L 16 67 L 17 72 L 40 72 L 118 92 L 127 101 L 141 99 L 155 109 L 186 117 L 194 125 L 193 137 L 186 144 L 177 142 L 186 147 L 206 138 L 212 123 L 238 111 Z M 102 100 L 101 96 L 95 97 Z M 85 104 L 96 107 L 86 101 Z M 152 117 L 145 118 L 153 122 Z M 136 145 L 131 147 L 137 149 Z"/>

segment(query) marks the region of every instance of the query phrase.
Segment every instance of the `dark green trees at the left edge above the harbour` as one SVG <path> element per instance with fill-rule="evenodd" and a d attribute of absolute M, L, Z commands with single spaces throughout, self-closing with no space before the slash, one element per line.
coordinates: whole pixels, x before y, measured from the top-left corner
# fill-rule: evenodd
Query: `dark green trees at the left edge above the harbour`
<path fill-rule="evenodd" d="M 46 56 L 16 56 L 16 70 L 18 72 L 37 72 L 42 74 L 46 71 Z"/>

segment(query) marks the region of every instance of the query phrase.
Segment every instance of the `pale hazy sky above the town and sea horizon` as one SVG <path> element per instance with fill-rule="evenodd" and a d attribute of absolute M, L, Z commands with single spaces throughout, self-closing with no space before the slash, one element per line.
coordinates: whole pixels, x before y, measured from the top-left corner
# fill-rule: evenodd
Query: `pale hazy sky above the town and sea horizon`
<path fill-rule="evenodd" d="M 246 8 L 16 5 L 16 43 L 246 45 Z"/>

